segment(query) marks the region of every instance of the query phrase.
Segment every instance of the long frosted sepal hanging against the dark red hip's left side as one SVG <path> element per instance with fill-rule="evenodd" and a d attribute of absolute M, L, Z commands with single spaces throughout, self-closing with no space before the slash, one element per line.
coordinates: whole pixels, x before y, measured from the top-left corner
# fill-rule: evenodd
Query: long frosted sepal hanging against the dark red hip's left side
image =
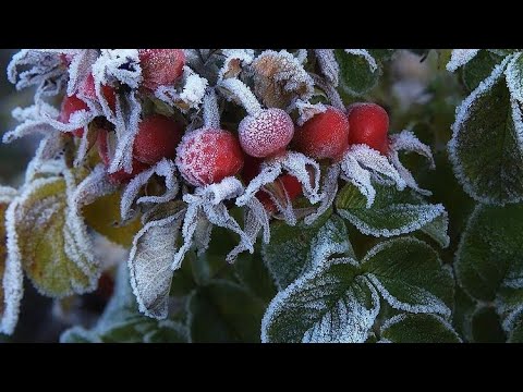
<path fill-rule="evenodd" d="M 117 99 L 117 122 L 115 136 L 117 145 L 108 172 L 115 173 L 124 170 L 126 173 L 133 171 L 133 146 L 134 138 L 138 133 L 138 125 L 142 114 L 142 105 L 135 91 L 125 94 L 124 99 Z M 119 97 L 121 98 L 121 97 Z"/>

